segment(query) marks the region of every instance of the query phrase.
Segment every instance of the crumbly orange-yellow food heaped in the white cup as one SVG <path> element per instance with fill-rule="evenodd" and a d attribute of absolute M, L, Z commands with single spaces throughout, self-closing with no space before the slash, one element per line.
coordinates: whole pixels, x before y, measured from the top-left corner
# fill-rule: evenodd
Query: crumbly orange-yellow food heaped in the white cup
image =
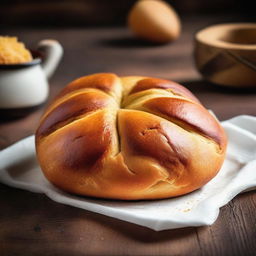
<path fill-rule="evenodd" d="M 0 36 L 0 64 L 20 64 L 32 59 L 30 51 L 17 37 Z"/>

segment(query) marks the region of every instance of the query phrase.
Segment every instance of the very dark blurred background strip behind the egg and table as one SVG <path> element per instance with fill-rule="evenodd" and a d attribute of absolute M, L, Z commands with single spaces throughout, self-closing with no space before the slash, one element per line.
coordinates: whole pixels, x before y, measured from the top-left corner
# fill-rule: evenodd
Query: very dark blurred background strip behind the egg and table
<path fill-rule="evenodd" d="M 1 0 L 0 24 L 29 26 L 120 26 L 135 0 Z M 251 0 L 167 0 L 181 15 L 255 17 Z M 230 17 L 232 15 L 232 17 Z"/>

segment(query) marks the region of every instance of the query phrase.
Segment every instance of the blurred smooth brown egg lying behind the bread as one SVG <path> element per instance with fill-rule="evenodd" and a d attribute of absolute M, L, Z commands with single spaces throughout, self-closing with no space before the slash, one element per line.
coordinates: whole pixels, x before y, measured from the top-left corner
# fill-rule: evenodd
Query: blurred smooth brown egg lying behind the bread
<path fill-rule="evenodd" d="M 181 31 L 178 14 L 161 0 L 137 1 L 129 12 L 128 26 L 137 37 L 155 43 L 171 42 Z"/>

